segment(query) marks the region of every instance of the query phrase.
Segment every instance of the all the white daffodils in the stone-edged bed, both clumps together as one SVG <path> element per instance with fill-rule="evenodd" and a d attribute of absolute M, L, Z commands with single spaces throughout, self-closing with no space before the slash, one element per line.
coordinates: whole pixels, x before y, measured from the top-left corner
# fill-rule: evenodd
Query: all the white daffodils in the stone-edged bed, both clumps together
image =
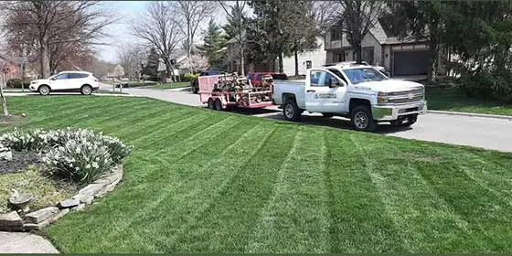
<path fill-rule="evenodd" d="M 115 137 L 77 128 L 28 132 L 15 128 L 2 135 L 0 143 L 16 151 L 42 152 L 51 174 L 80 183 L 98 178 L 132 153 L 131 146 Z"/>

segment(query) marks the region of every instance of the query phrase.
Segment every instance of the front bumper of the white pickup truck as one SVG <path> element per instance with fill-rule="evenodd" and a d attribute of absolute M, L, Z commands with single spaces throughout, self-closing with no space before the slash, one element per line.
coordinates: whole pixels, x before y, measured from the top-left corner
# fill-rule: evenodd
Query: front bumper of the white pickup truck
<path fill-rule="evenodd" d="M 373 119 L 377 121 L 393 121 L 400 116 L 427 113 L 427 101 L 417 101 L 406 104 L 373 105 L 371 106 Z"/>

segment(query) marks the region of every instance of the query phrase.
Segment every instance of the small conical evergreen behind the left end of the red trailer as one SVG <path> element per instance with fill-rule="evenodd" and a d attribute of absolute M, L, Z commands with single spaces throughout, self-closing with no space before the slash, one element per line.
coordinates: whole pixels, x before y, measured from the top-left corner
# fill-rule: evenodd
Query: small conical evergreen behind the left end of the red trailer
<path fill-rule="evenodd" d="M 211 69 L 224 69 L 226 37 L 222 35 L 220 27 L 210 19 L 207 34 L 204 38 L 205 44 L 202 47 L 208 57 L 208 64 Z"/>

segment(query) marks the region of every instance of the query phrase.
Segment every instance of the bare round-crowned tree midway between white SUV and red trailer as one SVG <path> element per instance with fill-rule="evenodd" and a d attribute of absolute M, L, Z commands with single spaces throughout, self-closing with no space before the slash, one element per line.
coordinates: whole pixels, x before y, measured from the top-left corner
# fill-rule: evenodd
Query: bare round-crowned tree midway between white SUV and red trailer
<path fill-rule="evenodd" d="M 133 25 L 133 36 L 144 40 L 149 48 L 155 48 L 164 60 L 167 75 L 174 74 L 171 56 L 182 40 L 179 24 L 171 18 L 175 12 L 172 5 L 164 2 L 151 2 L 147 5 L 144 16 Z"/>

